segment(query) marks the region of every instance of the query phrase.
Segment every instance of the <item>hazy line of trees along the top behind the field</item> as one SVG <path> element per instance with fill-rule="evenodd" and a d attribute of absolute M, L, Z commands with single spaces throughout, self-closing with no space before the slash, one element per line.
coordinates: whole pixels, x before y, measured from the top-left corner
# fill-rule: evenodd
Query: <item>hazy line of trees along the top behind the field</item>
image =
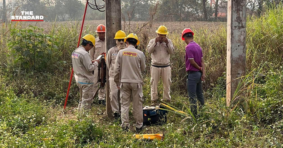
<path fill-rule="evenodd" d="M 5 0 L 3 0 L 5 1 Z M 89 0 L 94 3 L 94 0 Z M 96 0 L 97 5 L 104 1 Z M 283 0 L 247 0 L 247 13 L 260 16 L 264 7 L 278 5 Z M 6 0 L 6 18 L 20 15 L 20 11 L 33 11 L 34 15 L 43 15 L 45 21 L 53 22 L 82 20 L 86 0 Z M 217 5 L 216 5 L 217 4 Z M 226 20 L 227 0 L 121 0 L 122 20 L 146 21 L 160 16 L 158 21 L 213 21 Z M 1 15 L 3 20 L 5 15 Z M 87 20 L 104 20 L 105 12 L 88 7 Z"/>

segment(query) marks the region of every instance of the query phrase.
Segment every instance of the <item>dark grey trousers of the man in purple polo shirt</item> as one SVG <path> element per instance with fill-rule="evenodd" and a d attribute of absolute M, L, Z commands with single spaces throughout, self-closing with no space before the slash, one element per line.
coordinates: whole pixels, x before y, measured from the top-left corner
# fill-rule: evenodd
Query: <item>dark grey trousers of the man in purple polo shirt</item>
<path fill-rule="evenodd" d="M 197 100 L 199 101 L 200 108 L 204 105 L 204 99 L 202 94 L 201 72 L 194 72 L 187 75 L 187 91 L 188 97 L 191 103 L 191 112 L 196 117 L 197 112 Z"/>

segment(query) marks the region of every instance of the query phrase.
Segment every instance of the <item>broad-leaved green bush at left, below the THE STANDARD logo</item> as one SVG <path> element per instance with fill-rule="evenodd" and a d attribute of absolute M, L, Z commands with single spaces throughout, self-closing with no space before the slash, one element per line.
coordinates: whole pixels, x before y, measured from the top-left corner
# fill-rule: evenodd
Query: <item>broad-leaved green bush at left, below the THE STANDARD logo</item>
<path fill-rule="evenodd" d="M 48 68 L 52 59 L 52 50 L 57 48 L 55 37 L 42 33 L 43 29 L 29 26 L 26 29 L 12 29 L 10 48 L 16 63 L 28 70 Z"/>

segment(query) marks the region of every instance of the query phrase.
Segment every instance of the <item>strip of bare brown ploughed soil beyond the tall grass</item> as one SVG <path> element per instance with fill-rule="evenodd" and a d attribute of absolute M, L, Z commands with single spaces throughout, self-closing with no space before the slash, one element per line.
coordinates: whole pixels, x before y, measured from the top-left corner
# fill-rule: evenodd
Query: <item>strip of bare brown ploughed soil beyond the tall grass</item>
<path fill-rule="evenodd" d="M 130 32 L 134 32 L 140 29 L 147 22 L 130 22 L 130 27 L 129 27 L 129 22 L 124 23 L 122 21 L 121 23 L 122 23 L 122 30 L 126 32 L 130 30 Z M 55 24 L 56 24 L 55 28 L 58 26 L 66 26 L 66 27 L 72 27 L 72 28 L 75 27 L 79 31 L 82 21 L 56 22 Z M 97 25 L 99 24 L 105 24 L 105 20 L 85 21 L 84 29 L 89 28 L 90 31 L 95 31 Z M 203 28 L 203 29 L 208 29 L 208 30 L 213 31 L 213 30 L 218 29 L 219 26 L 226 26 L 226 24 L 227 24 L 226 22 L 157 22 L 157 21 L 153 21 L 151 28 L 143 27 L 143 29 L 150 29 L 150 33 L 152 33 L 151 35 L 155 36 L 155 30 L 157 30 L 157 28 L 160 25 L 165 25 L 168 28 L 169 33 L 181 34 L 184 28 L 191 28 L 194 30 L 200 30 Z M 43 28 L 45 32 L 49 32 L 50 30 L 53 29 L 54 22 L 37 22 L 37 23 L 23 22 L 22 25 L 24 26 L 36 25 L 38 27 Z"/>

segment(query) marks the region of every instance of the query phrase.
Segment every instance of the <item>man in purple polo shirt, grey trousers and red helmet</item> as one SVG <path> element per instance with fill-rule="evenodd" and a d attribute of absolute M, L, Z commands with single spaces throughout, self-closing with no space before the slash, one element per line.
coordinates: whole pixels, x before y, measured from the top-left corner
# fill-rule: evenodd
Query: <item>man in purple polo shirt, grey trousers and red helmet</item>
<path fill-rule="evenodd" d="M 197 100 L 199 106 L 204 105 L 202 94 L 202 83 L 205 77 L 205 66 L 203 61 L 203 54 L 200 46 L 194 42 L 194 32 L 186 28 L 182 32 L 182 40 L 187 44 L 186 46 L 186 71 L 187 71 L 187 91 L 191 103 L 191 112 L 194 117 L 197 116 Z"/>

